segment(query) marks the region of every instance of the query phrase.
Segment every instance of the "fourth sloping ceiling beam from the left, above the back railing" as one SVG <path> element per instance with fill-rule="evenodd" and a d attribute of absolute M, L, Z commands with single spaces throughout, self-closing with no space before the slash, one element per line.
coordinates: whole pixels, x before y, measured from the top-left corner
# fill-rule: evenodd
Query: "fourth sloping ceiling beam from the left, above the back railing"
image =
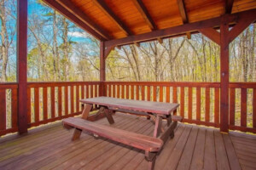
<path fill-rule="evenodd" d="M 132 0 L 132 1 L 135 4 L 139 13 L 143 15 L 143 19 L 147 22 L 151 31 L 157 30 L 157 26 L 154 24 L 154 20 L 152 19 L 152 17 L 148 13 L 147 8 L 143 4 L 143 0 Z"/>

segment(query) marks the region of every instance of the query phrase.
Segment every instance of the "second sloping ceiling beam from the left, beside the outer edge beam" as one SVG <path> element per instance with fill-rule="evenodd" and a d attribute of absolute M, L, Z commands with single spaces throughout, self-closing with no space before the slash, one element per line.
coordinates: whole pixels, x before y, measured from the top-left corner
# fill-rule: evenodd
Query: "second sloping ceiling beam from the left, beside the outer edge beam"
<path fill-rule="evenodd" d="M 93 20 L 90 20 L 90 18 L 84 14 L 82 10 L 77 8 L 74 3 L 71 3 L 70 1 L 62 1 L 62 0 L 56 0 L 58 3 L 60 3 L 64 8 L 67 8 L 67 10 L 75 15 L 79 20 L 83 20 L 85 24 L 90 26 L 91 29 L 95 30 L 98 34 L 100 34 L 105 39 L 109 40 L 112 39 L 112 37 L 109 36 L 108 31 L 103 30 L 100 26 L 97 26 L 96 23 Z"/>

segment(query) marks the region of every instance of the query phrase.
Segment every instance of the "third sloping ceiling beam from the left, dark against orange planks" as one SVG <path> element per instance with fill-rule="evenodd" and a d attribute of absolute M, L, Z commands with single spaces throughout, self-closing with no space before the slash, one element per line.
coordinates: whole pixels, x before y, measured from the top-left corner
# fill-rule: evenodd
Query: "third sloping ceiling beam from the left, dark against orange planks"
<path fill-rule="evenodd" d="M 119 19 L 119 17 L 113 13 L 111 8 L 108 7 L 108 5 L 103 0 L 92 0 L 99 8 L 102 9 L 102 11 L 108 15 L 108 17 L 113 20 L 113 22 L 119 26 L 119 29 L 125 32 L 126 36 L 131 36 L 132 32 L 131 30 L 125 26 L 125 24 Z"/>

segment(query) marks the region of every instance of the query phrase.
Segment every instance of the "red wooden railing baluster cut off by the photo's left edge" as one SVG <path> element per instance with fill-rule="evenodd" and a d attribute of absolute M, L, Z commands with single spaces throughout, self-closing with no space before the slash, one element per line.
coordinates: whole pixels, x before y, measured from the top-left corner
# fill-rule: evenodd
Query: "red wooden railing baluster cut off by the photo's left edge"
<path fill-rule="evenodd" d="M 6 89 L 0 89 L 0 130 L 6 129 Z"/>

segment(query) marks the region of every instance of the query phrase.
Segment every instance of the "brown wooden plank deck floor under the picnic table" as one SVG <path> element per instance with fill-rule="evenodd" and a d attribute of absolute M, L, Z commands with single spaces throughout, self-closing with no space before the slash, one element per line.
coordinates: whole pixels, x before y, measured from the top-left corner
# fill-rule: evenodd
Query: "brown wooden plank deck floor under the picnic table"
<path fill-rule="evenodd" d="M 151 135 L 153 125 L 143 117 L 115 114 L 113 127 Z M 108 124 L 106 119 L 98 121 Z M 72 142 L 73 131 L 61 125 L 37 133 L 0 140 L 0 169 L 147 169 L 143 151 L 83 133 Z M 256 138 L 242 133 L 179 123 L 155 169 L 256 169 Z"/>

